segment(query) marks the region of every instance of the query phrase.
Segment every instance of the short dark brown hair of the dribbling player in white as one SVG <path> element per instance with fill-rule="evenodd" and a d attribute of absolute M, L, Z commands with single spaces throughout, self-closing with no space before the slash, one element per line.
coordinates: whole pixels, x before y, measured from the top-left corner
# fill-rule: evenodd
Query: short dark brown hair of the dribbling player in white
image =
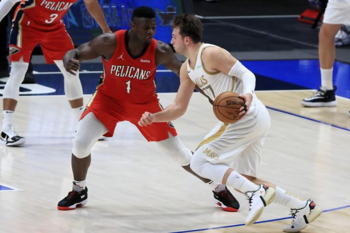
<path fill-rule="evenodd" d="M 199 43 L 202 41 L 203 26 L 200 19 L 194 15 L 178 15 L 172 24 L 172 28 L 179 27 L 182 37 L 190 37 L 193 42 Z"/>

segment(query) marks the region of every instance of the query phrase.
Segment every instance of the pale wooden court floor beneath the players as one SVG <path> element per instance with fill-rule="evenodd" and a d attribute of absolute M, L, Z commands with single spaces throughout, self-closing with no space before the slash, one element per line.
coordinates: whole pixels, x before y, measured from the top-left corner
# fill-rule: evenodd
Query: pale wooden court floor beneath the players
<path fill-rule="evenodd" d="M 300 105 L 310 91 L 257 95 L 271 116 L 259 176 L 302 198 L 312 197 L 325 210 L 303 232 L 348 233 L 349 99 L 316 109 Z M 159 96 L 166 106 L 175 94 Z M 195 93 L 187 113 L 174 125 L 194 150 L 216 122 L 207 100 Z M 285 219 L 288 208 L 272 203 L 259 223 L 242 226 L 248 213 L 242 194 L 232 191 L 241 203 L 239 212 L 222 211 L 207 185 L 128 122 L 93 147 L 87 205 L 58 211 L 57 203 L 72 181 L 75 122 L 68 103 L 63 96 L 20 97 L 15 123 L 27 143 L 18 148 L 0 145 L 0 185 L 16 189 L 0 191 L 0 233 L 280 233 L 291 221 Z"/>

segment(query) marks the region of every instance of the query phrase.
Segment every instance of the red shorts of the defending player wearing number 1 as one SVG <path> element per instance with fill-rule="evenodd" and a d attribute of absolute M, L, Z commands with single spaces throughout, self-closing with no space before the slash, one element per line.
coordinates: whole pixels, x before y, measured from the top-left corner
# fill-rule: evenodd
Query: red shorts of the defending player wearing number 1
<path fill-rule="evenodd" d="M 86 114 L 92 112 L 107 128 L 104 136 L 111 137 L 118 122 L 129 121 L 134 124 L 148 141 L 163 141 L 169 137 L 177 136 L 177 132 L 171 122 L 156 122 L 148 126 L 140 127 L 138 122 L 144 112 L 156 113 L 163 110 L 158 99 L 144 104 L 123 102 L 107 97 L 96 91 L 82 113 L 82 119 Z"/>

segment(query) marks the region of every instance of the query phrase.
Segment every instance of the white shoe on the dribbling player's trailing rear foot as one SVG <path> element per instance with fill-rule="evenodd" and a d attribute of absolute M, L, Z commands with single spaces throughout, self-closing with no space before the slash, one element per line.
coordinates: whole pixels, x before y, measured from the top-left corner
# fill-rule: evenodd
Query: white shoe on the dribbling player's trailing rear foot
<path fill-rule="evenodd" d="M 284 232 L 300 232 L 322 213 L 321 208 L 312 200 L 307 200 L 305 207 L 290 209 L 293 217 L 291 224 L 283 228 Z"/>

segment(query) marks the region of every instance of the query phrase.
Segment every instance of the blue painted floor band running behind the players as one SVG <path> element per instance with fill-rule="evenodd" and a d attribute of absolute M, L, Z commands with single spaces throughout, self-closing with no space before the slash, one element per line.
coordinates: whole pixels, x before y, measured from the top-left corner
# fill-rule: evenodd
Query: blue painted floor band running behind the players
<path fill-rule="evenodd" d="M 319 61 L 316 59 L 304 60 L 245 60 L 242 63 L 256 76 L 255 90 L 301 90 L 319 89 L 321 84 Z M 63 77 L 60 70 L 54 64 L 35 64 L 37 84 L 54 88 L 56 92 L 40 95 L 64 95 Z M 82 63 L 80 79 L 84 94 L 95 92 L 103 65 L 99 63 Z M 156 74 L 156 86 L 158 93 L 177 92 L 180 79 L 172 72 L 164 72 L 166 68 L 159 66 Z M 95 73 L 83 73 L 84 71 Z M 161 72 L 158 72 L 161 71 Z M 55 72 L 52 74 L 51 72 Z M 56 74 L 56 72 L 58 72 Z M 41 73 L 41 74 L 40 74 Z M 350 98 L 350 64 L 334 63 L 334 85 L 336 94 Z M 4 88 L 4 82 L 0 81 L 0 89 Z M 23 90 L 22 90 L 23 91 Z M 0 95 L 1 96 L 1 95 Z"/>

